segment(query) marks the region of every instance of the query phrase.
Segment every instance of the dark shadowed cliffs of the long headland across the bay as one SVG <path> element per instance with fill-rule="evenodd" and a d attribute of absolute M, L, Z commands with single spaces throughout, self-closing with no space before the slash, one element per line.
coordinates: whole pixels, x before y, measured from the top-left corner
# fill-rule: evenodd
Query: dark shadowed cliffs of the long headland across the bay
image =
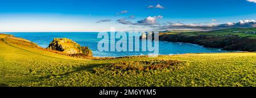
<path fill-rule="evenodd" d="M 256 51 L 256 39 L 242 37 L 189 36 L 160 33 L 159 41 L 194 43 L 204 47 L 223 48 L 223 50 Z"/>

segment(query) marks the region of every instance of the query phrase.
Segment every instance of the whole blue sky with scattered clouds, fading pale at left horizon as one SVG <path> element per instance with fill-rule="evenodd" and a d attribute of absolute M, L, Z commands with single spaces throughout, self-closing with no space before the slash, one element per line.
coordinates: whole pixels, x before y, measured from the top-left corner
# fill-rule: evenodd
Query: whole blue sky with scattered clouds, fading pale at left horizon
<path fill-rule="evenodd" d="M 255 0 L 0 1 L 0 32 L 212 30 L 255 20 Z"/>

